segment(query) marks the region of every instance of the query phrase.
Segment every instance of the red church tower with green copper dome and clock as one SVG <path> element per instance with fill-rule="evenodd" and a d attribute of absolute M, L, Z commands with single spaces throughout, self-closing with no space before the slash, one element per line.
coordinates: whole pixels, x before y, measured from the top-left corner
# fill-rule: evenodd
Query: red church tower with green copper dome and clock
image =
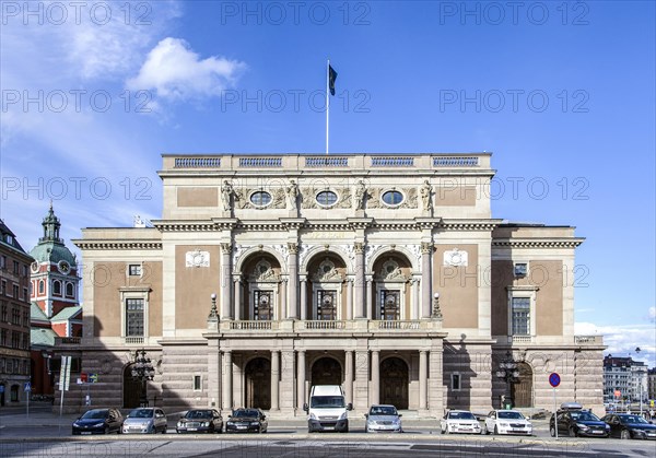
<path fill-rule="evenodd" d="M 78 261 L 59 237 L 61 223 L 52 205 L 42 223 L 44 236 L 30 251 L 32 262 L 32 381 L 35 395 L 52 395 L 54 377 L 60 357 L 55 357 L 59 342 L 82 336 L 82 307 L 79 300 Z M 79 360 L 73 368 L 79 372 Z"/>

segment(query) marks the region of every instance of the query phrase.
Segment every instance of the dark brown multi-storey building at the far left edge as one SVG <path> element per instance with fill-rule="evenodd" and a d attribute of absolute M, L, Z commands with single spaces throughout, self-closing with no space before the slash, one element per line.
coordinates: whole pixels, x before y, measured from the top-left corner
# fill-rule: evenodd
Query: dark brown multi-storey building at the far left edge
<path fill-rule="evenodd" d="M 30 381 L 30 263 L 0 220 L 0 407 L 23 402 Z"/>

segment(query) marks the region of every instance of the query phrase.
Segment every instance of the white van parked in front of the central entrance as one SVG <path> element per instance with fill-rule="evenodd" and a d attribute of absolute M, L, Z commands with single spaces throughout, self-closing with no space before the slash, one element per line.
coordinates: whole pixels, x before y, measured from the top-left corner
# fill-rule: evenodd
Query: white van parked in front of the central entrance
<path fill-rule="evenodd" d="M 316 385 L 309 392 L 309 406 L 303 404 L 309 418 L 307 432 L 338 431 L 349 432 L 348 411 L 353 404 L 348 403 L 339 385 Z"/>

